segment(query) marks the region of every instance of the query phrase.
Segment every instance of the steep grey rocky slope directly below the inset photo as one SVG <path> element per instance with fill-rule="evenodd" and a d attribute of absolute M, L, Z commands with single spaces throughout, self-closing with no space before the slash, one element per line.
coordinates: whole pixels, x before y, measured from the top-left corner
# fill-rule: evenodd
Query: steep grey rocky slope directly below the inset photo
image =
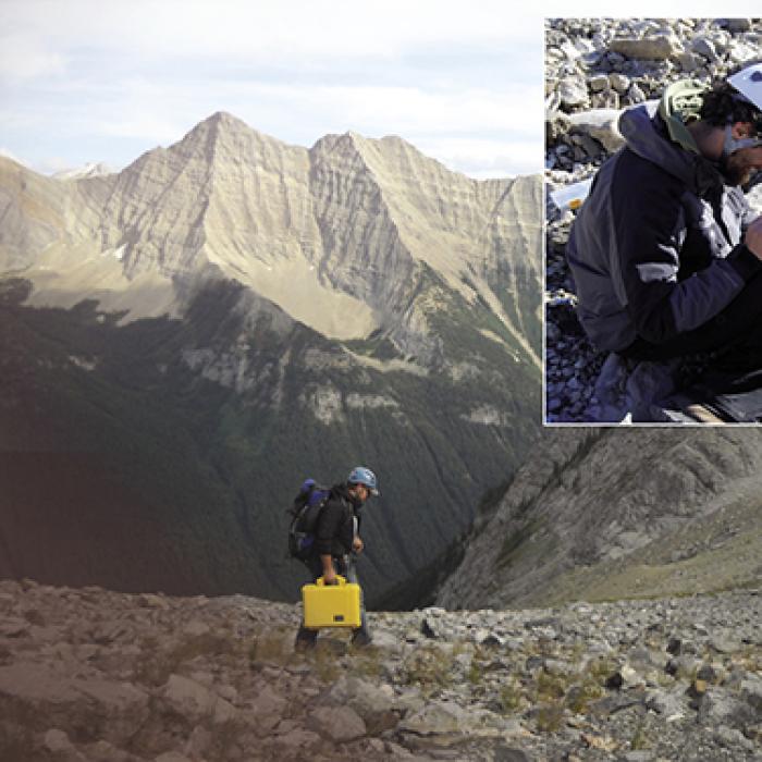
<path fill-rule="evenodd" d="M 477 520 L 443 605 L 693 593 L 762 579 L 757 430 L 552 431 Z"/>

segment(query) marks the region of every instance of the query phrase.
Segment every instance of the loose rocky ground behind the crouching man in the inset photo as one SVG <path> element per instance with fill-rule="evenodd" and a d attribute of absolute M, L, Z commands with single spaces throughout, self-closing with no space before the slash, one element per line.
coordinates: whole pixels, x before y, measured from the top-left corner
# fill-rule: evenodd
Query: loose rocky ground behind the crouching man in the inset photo
<path fill-rule="evenodd" d="M 760 56 L 750 19 L 556 19 L 545 22 L 545 420 L 600 420 L 594 384 L 605 360 L 583 335 L 564 247 L 574 212 L 553 192 L 594 175 L 617 150 L 620 110 L 659 99 L 677 79 L 711 82 Z M 752 204 L 762 211 L 760 188 Z M 604 416 L 605 417 L 605 416 Z"/>

